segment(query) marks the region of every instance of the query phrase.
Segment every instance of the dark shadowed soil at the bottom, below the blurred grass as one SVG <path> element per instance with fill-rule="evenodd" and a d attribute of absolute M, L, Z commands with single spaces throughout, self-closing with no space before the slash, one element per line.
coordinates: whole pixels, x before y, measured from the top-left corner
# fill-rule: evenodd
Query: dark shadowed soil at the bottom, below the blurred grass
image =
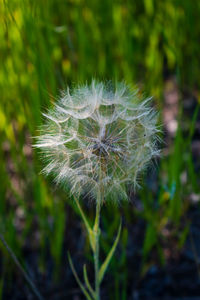
<path fill-rule="evenodd" d="M 174 248 L 172 245 L 170 245 L 170 249 L 166 247 L 165 250 L 168 253 L 168 258 L 166 259 L 166 264 L 163 266 L 159 263 L 156 249 L 152 251 L 150 257 L 151 265 L 143 277 L 140 275 L 142 266 L 141 244 L 145 224 L 143 221 L 138 220 L 134 224 L 134 228 L 128 228 L 129 241 L 126 249 L 126 271 L 128 271 L 128 275 L 127 298 L 125 299 L 200 299 L 200 210 L 197 206 L 193 206 L 190 209 L 187 214 L 187 220 L 191 220 L 191 225 L 183 249 L 177 250 L 175 244 Z M 77 223 L 78 225 L 76 225 Z M 73 241 L 70 244 L 70 251 L 77 272 L 82 278 L 82 266 L 86 261 L 83 253 L 85 237 L 81 234 L 82 228 L 79 225 L 79 222 L 74 222 L 74 231 L 66 235 L 67 240 L 65 243 L 67 244 L 69 239 Z M 75 237 L 77 240 L 75 240 Z M 65 247 L 66 249 L 69 248 L 67 245 Z M 120 249 L 118 249 L 118 252 L 120 252 Z M 118 252 L 117 255 L 119 254 Z M 57 283 L 55 283 L 56 281 L 52 276 L 54 266 L 50 255 L 46 257 L 45 272 L 38 270 L 38 252 L 31 251 L 31 249 L 24 249 L 24 257 L 26 258 L 26 269 L 44 299 L 84 299 L 75 282 L 66 257 L 63 259 L 62 266 L 60 266 Z M 90 263 L 89 277 L 91 281 L 93 280 L 92 274 L 92 263 Z M 120 276 L 123 280 L 123 273 Z M 112 272 L 108 272 L 102 284 L 101 293 L 103 300 L 116 299 L 114 292 L 112 296 L 112 287 L 114 289 L 113 274 Z M 4 284 L 3 299 L 32 300 L 36 299 L 36 297 L 31 292 L 21 273 L 15 271 L 13 278 Z"/>

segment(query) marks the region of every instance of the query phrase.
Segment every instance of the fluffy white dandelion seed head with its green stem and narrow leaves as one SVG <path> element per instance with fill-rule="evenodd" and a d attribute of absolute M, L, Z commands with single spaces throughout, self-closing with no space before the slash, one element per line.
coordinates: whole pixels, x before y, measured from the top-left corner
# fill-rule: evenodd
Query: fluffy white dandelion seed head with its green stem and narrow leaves
<path fill-rule="evenodd" d="M 105 272 L 99 269 L 98 257 L 103 201 L 127 199 L 127 186 L 138 187 L 139 175 L 159 155 L 157 113 L 150 103 L 151 98 L 145 99 L 125 83 L 93 80 L 90 85 L 64 91 L 54 108 L 43 114 L 46 122 L 35 144 L 46 163 L 43 173 L 69 186 L 75 199 L 83 195 L 96 200 L 93 228 L 76 200 L 95 261 L 95 290 L 87 278 L 89 294 L 81 285 L 87 298 L 100 299 L 99 286 Z M 75 272 L 71 259 L 70 263 Z"/>

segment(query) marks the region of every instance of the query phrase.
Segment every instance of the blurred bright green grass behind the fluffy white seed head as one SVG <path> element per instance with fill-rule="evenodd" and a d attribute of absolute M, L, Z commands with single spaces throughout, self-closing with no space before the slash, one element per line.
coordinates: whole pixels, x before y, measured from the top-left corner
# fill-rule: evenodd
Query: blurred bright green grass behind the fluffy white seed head
<path fill-rule="evenodd" d="M 69 197 L 55 193 L 38 175 L 41 162 L 31 149 L 41 112 L 52 105 L 60 89 L 96 77 L 138 85 L 154 96 L 162 116 L 166 74 L 176 77 L 181 112 L 183 91 L 197 94 L 200 87 L 199 14 L 200 2 L 195 0 L 0 0 L 0 226 L 22 261 L 21 249 L 36 223 L 41 270 L 50 246 L 58 271 L 68 218 L 64 206 Z M 184 243 L 186 234 L 179 224 L 188 209 L 185 200 L 192 191 L 200 192 L 190 147 L 196 115 L 187 121 L 189 137 L 184 137 L 180 123 L 169 154 L 161 158 L 159 191 L 155 194 L 144 185 L 139 193 L 144 210 L 135 214 L 147 222 L 144 262 L 154 247 L 164 262 L 160 241 L 169 221 Z M 188 182 L 183 186 L 181 174 L 186 170 Z M 125 205 L 125 218 L 131 224 L 129 210 Z M 104 220 L 105 251 L 119 211 L 114 209 L 113 226 Z M 111 212 L 108 207 L 108 217 Z M 119 296 L 116 272 L 120 267 L 127 272 L 126 234 L 124 229 L 120 266 L 111 264 L 116 299 L 126 299 L 126 283 Z M 8 260 L 4 264 L 7 273 Z M 3 280 L 1 289 L 2 285 Z"/>

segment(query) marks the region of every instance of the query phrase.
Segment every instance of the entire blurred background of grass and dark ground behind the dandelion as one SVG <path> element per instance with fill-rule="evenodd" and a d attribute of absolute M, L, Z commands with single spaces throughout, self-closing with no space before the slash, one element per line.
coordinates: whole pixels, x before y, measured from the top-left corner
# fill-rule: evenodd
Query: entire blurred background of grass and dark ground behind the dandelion
<path fill-rule="evenodd" d="M 137 85 L 163 124 L 142 189 L 103 208 L 102 258 L 121 217 L 123 230 L 102 299 L 200 299 L 199 16 L 198 0 L 0 0 L 0 231 L 46 299 L 82 299 L 67 251 L 91 280 L 92 256 L 32 137 L 61 89 L 92 78 Z M 0 299 L 35 299 L 2 244 L 0 254 Z"/>

